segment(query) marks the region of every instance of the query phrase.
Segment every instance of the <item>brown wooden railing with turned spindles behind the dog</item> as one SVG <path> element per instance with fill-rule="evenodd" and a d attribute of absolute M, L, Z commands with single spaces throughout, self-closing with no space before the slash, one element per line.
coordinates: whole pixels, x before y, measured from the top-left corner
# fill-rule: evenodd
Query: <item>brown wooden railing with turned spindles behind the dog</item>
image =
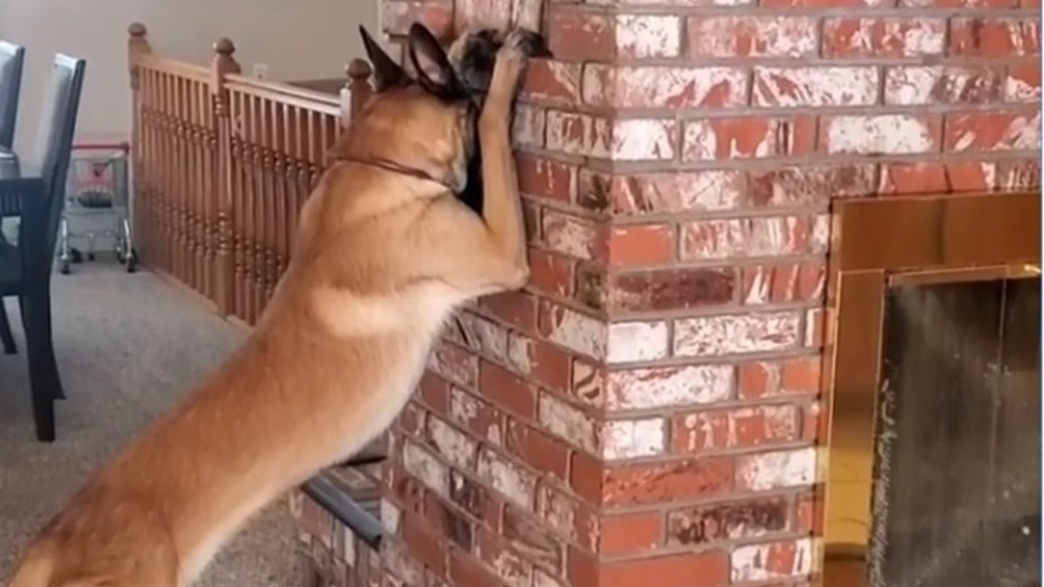
<path fill-rule="evenodd" d="M 339 95 L 240 74 L 235 45 L 209 67 L 127 44 L 134 229 L 143 265 L 253 324 L 286 268 L 298 215 L 326 152 L 372 93 L 354 59 Z"/>

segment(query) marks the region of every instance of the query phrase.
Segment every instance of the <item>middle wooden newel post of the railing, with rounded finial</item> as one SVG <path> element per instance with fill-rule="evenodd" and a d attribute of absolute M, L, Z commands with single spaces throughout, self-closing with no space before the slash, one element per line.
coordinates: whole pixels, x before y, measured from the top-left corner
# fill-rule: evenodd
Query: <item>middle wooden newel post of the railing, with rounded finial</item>
<path fill-rule="evenodd" d="M 232 255 L 233 233 L 232 214 L 232 128 L 229 106 L 229 91 L 226 81 L 230 74 L 240 73 L 241 68 L 233 54 L 236 46 L 228 39 L 214 43 L 214 58 L 211 62 L 210 92 L 214 100 L 214 115 L 217 123 L 217 171 L 214 185 L 217 186 L 217 309 L 228 316 L 233 310 L 235 296 L 235 264 Z"/>

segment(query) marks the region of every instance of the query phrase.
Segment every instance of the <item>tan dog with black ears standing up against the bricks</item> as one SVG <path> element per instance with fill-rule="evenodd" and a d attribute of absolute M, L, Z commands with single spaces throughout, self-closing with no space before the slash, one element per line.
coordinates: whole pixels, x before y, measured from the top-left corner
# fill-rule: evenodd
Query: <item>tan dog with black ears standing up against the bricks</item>
<path fill-rule="evenodd" d="M 410 79 L 364 33 L 378 92 L 302 212 L 293 259 L 243 345 L 105 465 L 11 587 L 192 583 L 245 520 L 384 430 L 464 300 L 528 274 L 508 126 L 522 35 L 481 114 L 424 27 Z M 475 145 L 483 215 L 454 192 Z"/>

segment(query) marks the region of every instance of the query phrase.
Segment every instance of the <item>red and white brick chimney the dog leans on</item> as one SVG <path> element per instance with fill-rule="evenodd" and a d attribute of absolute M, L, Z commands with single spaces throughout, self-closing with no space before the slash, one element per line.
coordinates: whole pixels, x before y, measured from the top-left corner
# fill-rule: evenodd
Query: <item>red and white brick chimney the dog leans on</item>
<path fill-rule="evenodd" d="M 388 437 L 381 557 L 337 562 L 351 538 L 295 503 L 326 583 L 816 582 L 832 203 L 1039 190 L 1039 3 L 383 10 L 393 40 L 524 23 L 555 58 L 515 122 L 531 283 L 431 356 Z"/>

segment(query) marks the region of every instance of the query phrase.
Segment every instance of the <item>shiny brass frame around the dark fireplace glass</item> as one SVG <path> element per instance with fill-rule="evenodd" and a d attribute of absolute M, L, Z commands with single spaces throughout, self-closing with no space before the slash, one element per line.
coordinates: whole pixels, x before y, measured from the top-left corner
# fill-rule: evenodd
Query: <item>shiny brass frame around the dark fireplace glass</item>
<path fill-rule="evenodd" d="M 863 587 L 885 289 L 1039 274 L 1040 194 L 840 200 L 833 222 L 821 568 L 826 587 Z"/>

